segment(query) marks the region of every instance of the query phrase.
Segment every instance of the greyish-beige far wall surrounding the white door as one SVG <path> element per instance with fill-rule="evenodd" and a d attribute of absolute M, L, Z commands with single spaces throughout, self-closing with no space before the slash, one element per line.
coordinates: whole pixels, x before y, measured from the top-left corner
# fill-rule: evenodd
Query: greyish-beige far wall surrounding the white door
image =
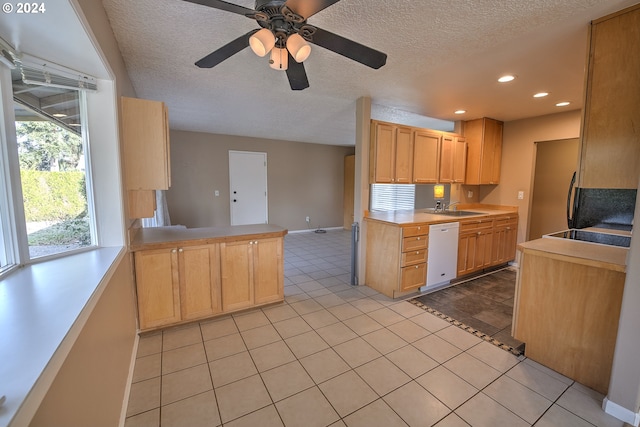
<path fill-rule="evenodd" d="M 342 227 L 344 156 L 352 147 L 171 131 L 172 224 L 230 224 L 229 150 L 267 153 L 269 223 L 289 230 Z M 218 190 L 220 196 L 215 197 Z"/>

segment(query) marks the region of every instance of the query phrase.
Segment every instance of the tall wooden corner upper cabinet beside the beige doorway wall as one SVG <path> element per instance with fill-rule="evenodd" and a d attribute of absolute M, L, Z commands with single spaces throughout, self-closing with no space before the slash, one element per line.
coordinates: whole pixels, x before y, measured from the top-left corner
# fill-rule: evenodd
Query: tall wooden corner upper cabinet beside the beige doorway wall
<path fill-rule="evenodd" d="M 462 122 L 467 143 L 465 184 L 499 184 L 503 123 L 481 118 Z"/>

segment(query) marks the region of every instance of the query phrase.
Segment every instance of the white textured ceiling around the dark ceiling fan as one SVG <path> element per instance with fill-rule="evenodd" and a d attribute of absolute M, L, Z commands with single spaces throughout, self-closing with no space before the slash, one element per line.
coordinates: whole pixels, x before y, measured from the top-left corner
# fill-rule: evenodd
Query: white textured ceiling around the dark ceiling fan
<path fill-rule="evenodd" d="M 387 64 L 373 70 L 312 45 L 310 88 L 294 92 L 248 48 L 211 69 L 194 65 L 258 28 L 252 19 L 183 0 L 103 0 L 137 96 L 165 101 L 172 129 L 335 145 L 354 144 L 362 96 L 374 118 L 434 118 L 442 129 L 552 114 L 558 101 L 579 109 L 588 23 L 636 2 L 341 0 L 308 22 L 385 52 Z M 518 78 L 498 84 L 504 73 Z M 550 95 L 534 99 L 539 91 Z"/>

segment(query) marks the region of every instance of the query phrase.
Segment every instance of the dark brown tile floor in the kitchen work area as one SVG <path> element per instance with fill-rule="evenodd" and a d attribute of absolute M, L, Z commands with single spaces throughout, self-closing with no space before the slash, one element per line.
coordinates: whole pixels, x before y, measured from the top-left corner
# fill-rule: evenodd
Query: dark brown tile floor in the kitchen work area
<path fill-rule="evenodd" d="M 432 292 L 418 301 L 514 348 L 511 336 L 516 272 L 510 268 Z"/>

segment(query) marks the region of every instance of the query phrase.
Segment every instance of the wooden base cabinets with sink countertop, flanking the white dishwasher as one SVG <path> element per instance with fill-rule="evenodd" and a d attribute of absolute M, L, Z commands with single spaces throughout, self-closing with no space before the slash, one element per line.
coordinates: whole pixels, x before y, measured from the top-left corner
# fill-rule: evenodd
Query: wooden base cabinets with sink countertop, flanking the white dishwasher
<path fill-rule="evenodd" d="M 429 226 L 458 222 L 455 277 L 480 272 L 515 258 L 518 208 L 459 204 L 457 211 L 433 209 L 370 212 L 366 223 L 365 284 L 391 298 L 426 284 Z"/>

